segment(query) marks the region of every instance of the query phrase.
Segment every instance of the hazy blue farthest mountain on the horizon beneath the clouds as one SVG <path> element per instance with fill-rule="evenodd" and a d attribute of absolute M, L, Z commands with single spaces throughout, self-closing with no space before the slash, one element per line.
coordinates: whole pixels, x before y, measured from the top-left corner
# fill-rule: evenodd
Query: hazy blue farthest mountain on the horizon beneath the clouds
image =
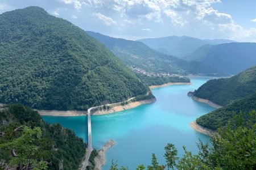
<path fill-rule="evenodd" d="M 234 42 L 232 40 L 201 40 L 188 36 L 169 36 L 169 37 L 160 37 L 152 39 L 142 39 L 138 40 L 144 44 L 150 46 L 152 49 L 156 49 L 159 52 L 168 54 L 176 57 L 187 56 L 194 52 L 197 48 L 202 45 L 217 45 L 224 44 L 229 42 Z"/>

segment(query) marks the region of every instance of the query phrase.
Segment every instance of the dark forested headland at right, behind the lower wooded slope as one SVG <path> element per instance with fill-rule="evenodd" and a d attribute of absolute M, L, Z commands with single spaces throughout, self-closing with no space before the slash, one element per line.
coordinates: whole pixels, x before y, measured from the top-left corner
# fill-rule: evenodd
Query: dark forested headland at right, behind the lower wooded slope
<path fill-rule="evenodd" d="M 193 95 L 219 105 L 226 105 L 232 100 L 242 99 L 254 92 L 256 92 L 256 66 L 231 78 L 209 80 L 193 92 Z"/>

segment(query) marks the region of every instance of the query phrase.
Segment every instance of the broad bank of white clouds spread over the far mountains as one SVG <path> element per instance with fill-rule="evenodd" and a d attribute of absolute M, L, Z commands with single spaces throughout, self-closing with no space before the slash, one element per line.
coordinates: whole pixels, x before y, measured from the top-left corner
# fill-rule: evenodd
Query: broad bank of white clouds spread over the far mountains
<path fill-rule="evenodd" d="M 94 11 L 93 16 L 102 20 L 105 25 L 117 24 L 120 21 L 122 29 L 130 31 L 164 30 L 165 34 L 198 36 L 205 38 L 225 38 L 238 41 L 256 41 L 256 28 L 243 28 L 236 24 L 230 14 L 214 8 L 221 0 L 59 0 L 72 4 L 76 9 L 86 5 Z M 96 12 L 97 11 L 97 12 Z M 109 16 L 106 11 L 109 12 Z M 256 18 L 251 19 L 256 23 Z M 163 29 L 158 24 L 163 25 Z M 168 32 L 170 27 L 172 32 Z M 103 29 L 103 28 L 102 28 Z M 129 29 L 129 30 L 128 30 Z M 196 31 L 193 31 L 196 30 Z M 123 31 L 123 32 L 124 32 Z M 160 33 L 159 33 L 160 32 Z M 135 33 L 136 34 L 136 33 Z M 158 34 L 163 33 L 158 31 Z"/>

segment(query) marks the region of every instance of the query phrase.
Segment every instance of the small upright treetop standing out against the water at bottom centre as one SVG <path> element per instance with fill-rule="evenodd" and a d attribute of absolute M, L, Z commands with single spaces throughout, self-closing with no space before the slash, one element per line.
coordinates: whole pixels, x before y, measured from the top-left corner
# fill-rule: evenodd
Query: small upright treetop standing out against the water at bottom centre
<path fill-rule="evenodd" d="M 178 159 L 176 147 L 172 143 L 167 143 L 167 146 L 164 147 L 164 150 L 166 150 L 164 158 L 166 158 L 168 169 L 174 169 L 174 166 L 176 165 L 175 161 Z"/>

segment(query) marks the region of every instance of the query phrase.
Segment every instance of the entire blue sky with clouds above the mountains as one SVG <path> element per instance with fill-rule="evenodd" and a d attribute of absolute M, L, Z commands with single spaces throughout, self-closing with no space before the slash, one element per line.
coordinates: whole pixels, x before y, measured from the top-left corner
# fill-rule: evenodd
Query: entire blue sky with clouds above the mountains
<path fill-rule="evenodd" d="M 0 0 L 0 14 L 43 7 L 85 31 L 137 40 L 191 36 L 256 42 L 255 0 Z"/>

